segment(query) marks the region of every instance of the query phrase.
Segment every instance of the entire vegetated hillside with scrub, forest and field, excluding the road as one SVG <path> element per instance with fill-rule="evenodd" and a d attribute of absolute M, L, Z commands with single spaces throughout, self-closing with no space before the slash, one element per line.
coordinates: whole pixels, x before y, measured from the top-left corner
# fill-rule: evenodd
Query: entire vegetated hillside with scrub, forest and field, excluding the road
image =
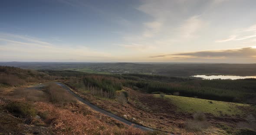
<path fill-rule="evenodd" d="M 0 131 L 6 134 L 242 135 L 256 130 L 256 79 L 0 69 Z M 66 84 L 108 112 L 157 131 L 144 132 L 95 113 L 52 81 Z M 27 88 L 38 84 L 41 87 Z"/>

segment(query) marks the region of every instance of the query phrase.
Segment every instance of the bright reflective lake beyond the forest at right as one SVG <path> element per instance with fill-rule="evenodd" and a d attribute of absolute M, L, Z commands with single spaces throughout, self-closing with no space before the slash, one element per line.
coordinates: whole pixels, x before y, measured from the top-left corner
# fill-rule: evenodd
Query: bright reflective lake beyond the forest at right
<path fill-rule="evenodd" d="M 256 78 L 256 76 L 233 76 L 233 75 L 193 75 L 191 77 L 201 77 L 203 79 L 231 79 L 231 80 L 236 80 L 236 79 L 246 79 L 246 78 Z"/>

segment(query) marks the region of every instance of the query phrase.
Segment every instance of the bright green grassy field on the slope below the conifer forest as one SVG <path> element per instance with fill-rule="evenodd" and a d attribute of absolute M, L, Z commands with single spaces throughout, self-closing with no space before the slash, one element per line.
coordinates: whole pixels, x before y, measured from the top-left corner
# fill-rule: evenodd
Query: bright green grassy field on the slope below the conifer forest
<path fill-rule="evenodd" d="M 158 94 L 155 96 L 160 97 Z M 178 112 L 203 112 L 211 113 L 215 116 L 220 115 L 243 115 L 243 111 L 238 109 L 239 106 L 252 107 L 253 105 L 242 104 L 242 103 L 230 103 L 214 100 L 204 100 L 191 97 L 183 96 L 172 96 L 165 95 L 165 99 L 170 100 L 170 102 L 178 107 Z M 254 107 L 255 108 L 255 107 Z"/>

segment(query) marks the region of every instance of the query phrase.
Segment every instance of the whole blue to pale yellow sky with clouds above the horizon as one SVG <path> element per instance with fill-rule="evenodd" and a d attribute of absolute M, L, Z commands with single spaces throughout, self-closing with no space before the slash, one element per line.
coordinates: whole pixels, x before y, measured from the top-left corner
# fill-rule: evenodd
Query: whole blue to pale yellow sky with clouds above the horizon
<path fill-rule="evenodd" d="M 0 0 L 0 61 L 256 63 L 256 0 Z"/>

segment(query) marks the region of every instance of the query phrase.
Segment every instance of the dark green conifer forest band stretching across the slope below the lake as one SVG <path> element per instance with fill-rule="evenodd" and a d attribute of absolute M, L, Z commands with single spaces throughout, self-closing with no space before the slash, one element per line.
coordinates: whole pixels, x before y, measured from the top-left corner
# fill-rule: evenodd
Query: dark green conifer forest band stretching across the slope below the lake
<path fill-rule="evenodd" d="M 89 74 L 77 71 L 40 70 L 55 76 L 55 80 L 67 79 L 87 89 L 114 93 L 122 86 L 145 93 L 164 93 L 237 103 L 256 104 L 256 79 L 203 80 L 195 77 L 167 77 L 146 74 Z"/>

